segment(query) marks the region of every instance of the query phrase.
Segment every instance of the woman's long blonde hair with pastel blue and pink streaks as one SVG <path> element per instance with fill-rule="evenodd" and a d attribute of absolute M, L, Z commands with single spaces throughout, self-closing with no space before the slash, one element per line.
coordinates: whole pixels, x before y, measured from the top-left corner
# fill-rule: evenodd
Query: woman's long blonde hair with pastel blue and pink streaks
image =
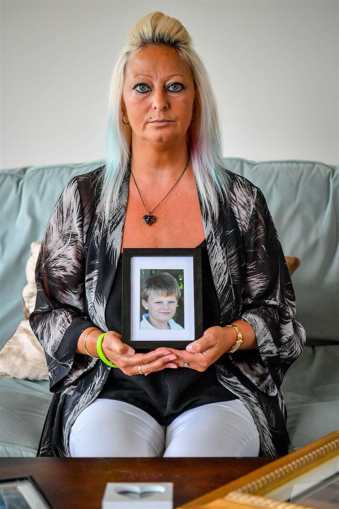
<path fill-rule="evenodd" d="M 196 120 L 188 128 L 187 142 L 202 213 L 216 220 L 219 214 L 218 197 L 227 200 L 230 176 L 222 160 L 220 118 L 208 73 L 193 48 L 186 28 L 179 20 L 156 11 L 142 17 L 131 27 L 111 76 L 104 140 L 106 163 L 98 179 L 102 180 L 98 208 L 104 229 L 108 228 L 111 207 L 117 204 L 120 185 L 131 156 L 132 130 L 121 121 L 125 70 L 129 61 L 143 47 L 152 44 L 175 48 L 192 72 Z"/>

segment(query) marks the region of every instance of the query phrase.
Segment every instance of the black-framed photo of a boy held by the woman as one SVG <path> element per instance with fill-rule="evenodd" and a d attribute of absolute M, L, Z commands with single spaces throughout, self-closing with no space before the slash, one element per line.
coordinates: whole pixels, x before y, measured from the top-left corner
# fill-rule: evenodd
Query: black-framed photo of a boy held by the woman
<path fill-rule="evenodd" d="M 201 248 L 124 248 L 124 343 L 184 349 L 202 334 Z"/>

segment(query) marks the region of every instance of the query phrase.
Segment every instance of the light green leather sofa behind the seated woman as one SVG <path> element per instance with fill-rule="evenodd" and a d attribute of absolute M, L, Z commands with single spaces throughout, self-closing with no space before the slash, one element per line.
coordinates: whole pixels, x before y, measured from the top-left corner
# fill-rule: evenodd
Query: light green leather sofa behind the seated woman
<path fill-rule="evenodd" d="M 339 166 L 314 161 L 224 161 L 262 190 L 285 256 L 301 260 L 292 283 L 307 340 L 283 382 L 288 430 L 299 448 L 339 428 Z M 69 180 L 103 163 L 0 172 L 0 349 L 24 319 L 21 292 L 30 244 L 42 240 Z M 36 456 L 51 397 L 47 380 L 0 378 L 0 456 Z"/>

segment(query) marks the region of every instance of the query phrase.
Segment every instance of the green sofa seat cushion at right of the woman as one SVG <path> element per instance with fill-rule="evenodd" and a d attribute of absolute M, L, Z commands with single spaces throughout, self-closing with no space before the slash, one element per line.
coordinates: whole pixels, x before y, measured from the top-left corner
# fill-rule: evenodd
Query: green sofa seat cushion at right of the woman
<path fill-rule="evenodd" d="M 339 345 L 305 346 L 282 389 L 287 429 L 300 448 L 339 429 Z"/>

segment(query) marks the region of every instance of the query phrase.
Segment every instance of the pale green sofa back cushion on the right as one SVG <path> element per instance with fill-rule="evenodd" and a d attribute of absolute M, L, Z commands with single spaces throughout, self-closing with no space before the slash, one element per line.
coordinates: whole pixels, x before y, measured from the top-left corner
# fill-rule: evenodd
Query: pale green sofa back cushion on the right
<path fill-rule="evenodd" d="M 285 256 L 301 260 L 292 283 L 306 342 L 339 342 L 339 166 L 239 158 L 224 162 L 262 190 Z"/>

